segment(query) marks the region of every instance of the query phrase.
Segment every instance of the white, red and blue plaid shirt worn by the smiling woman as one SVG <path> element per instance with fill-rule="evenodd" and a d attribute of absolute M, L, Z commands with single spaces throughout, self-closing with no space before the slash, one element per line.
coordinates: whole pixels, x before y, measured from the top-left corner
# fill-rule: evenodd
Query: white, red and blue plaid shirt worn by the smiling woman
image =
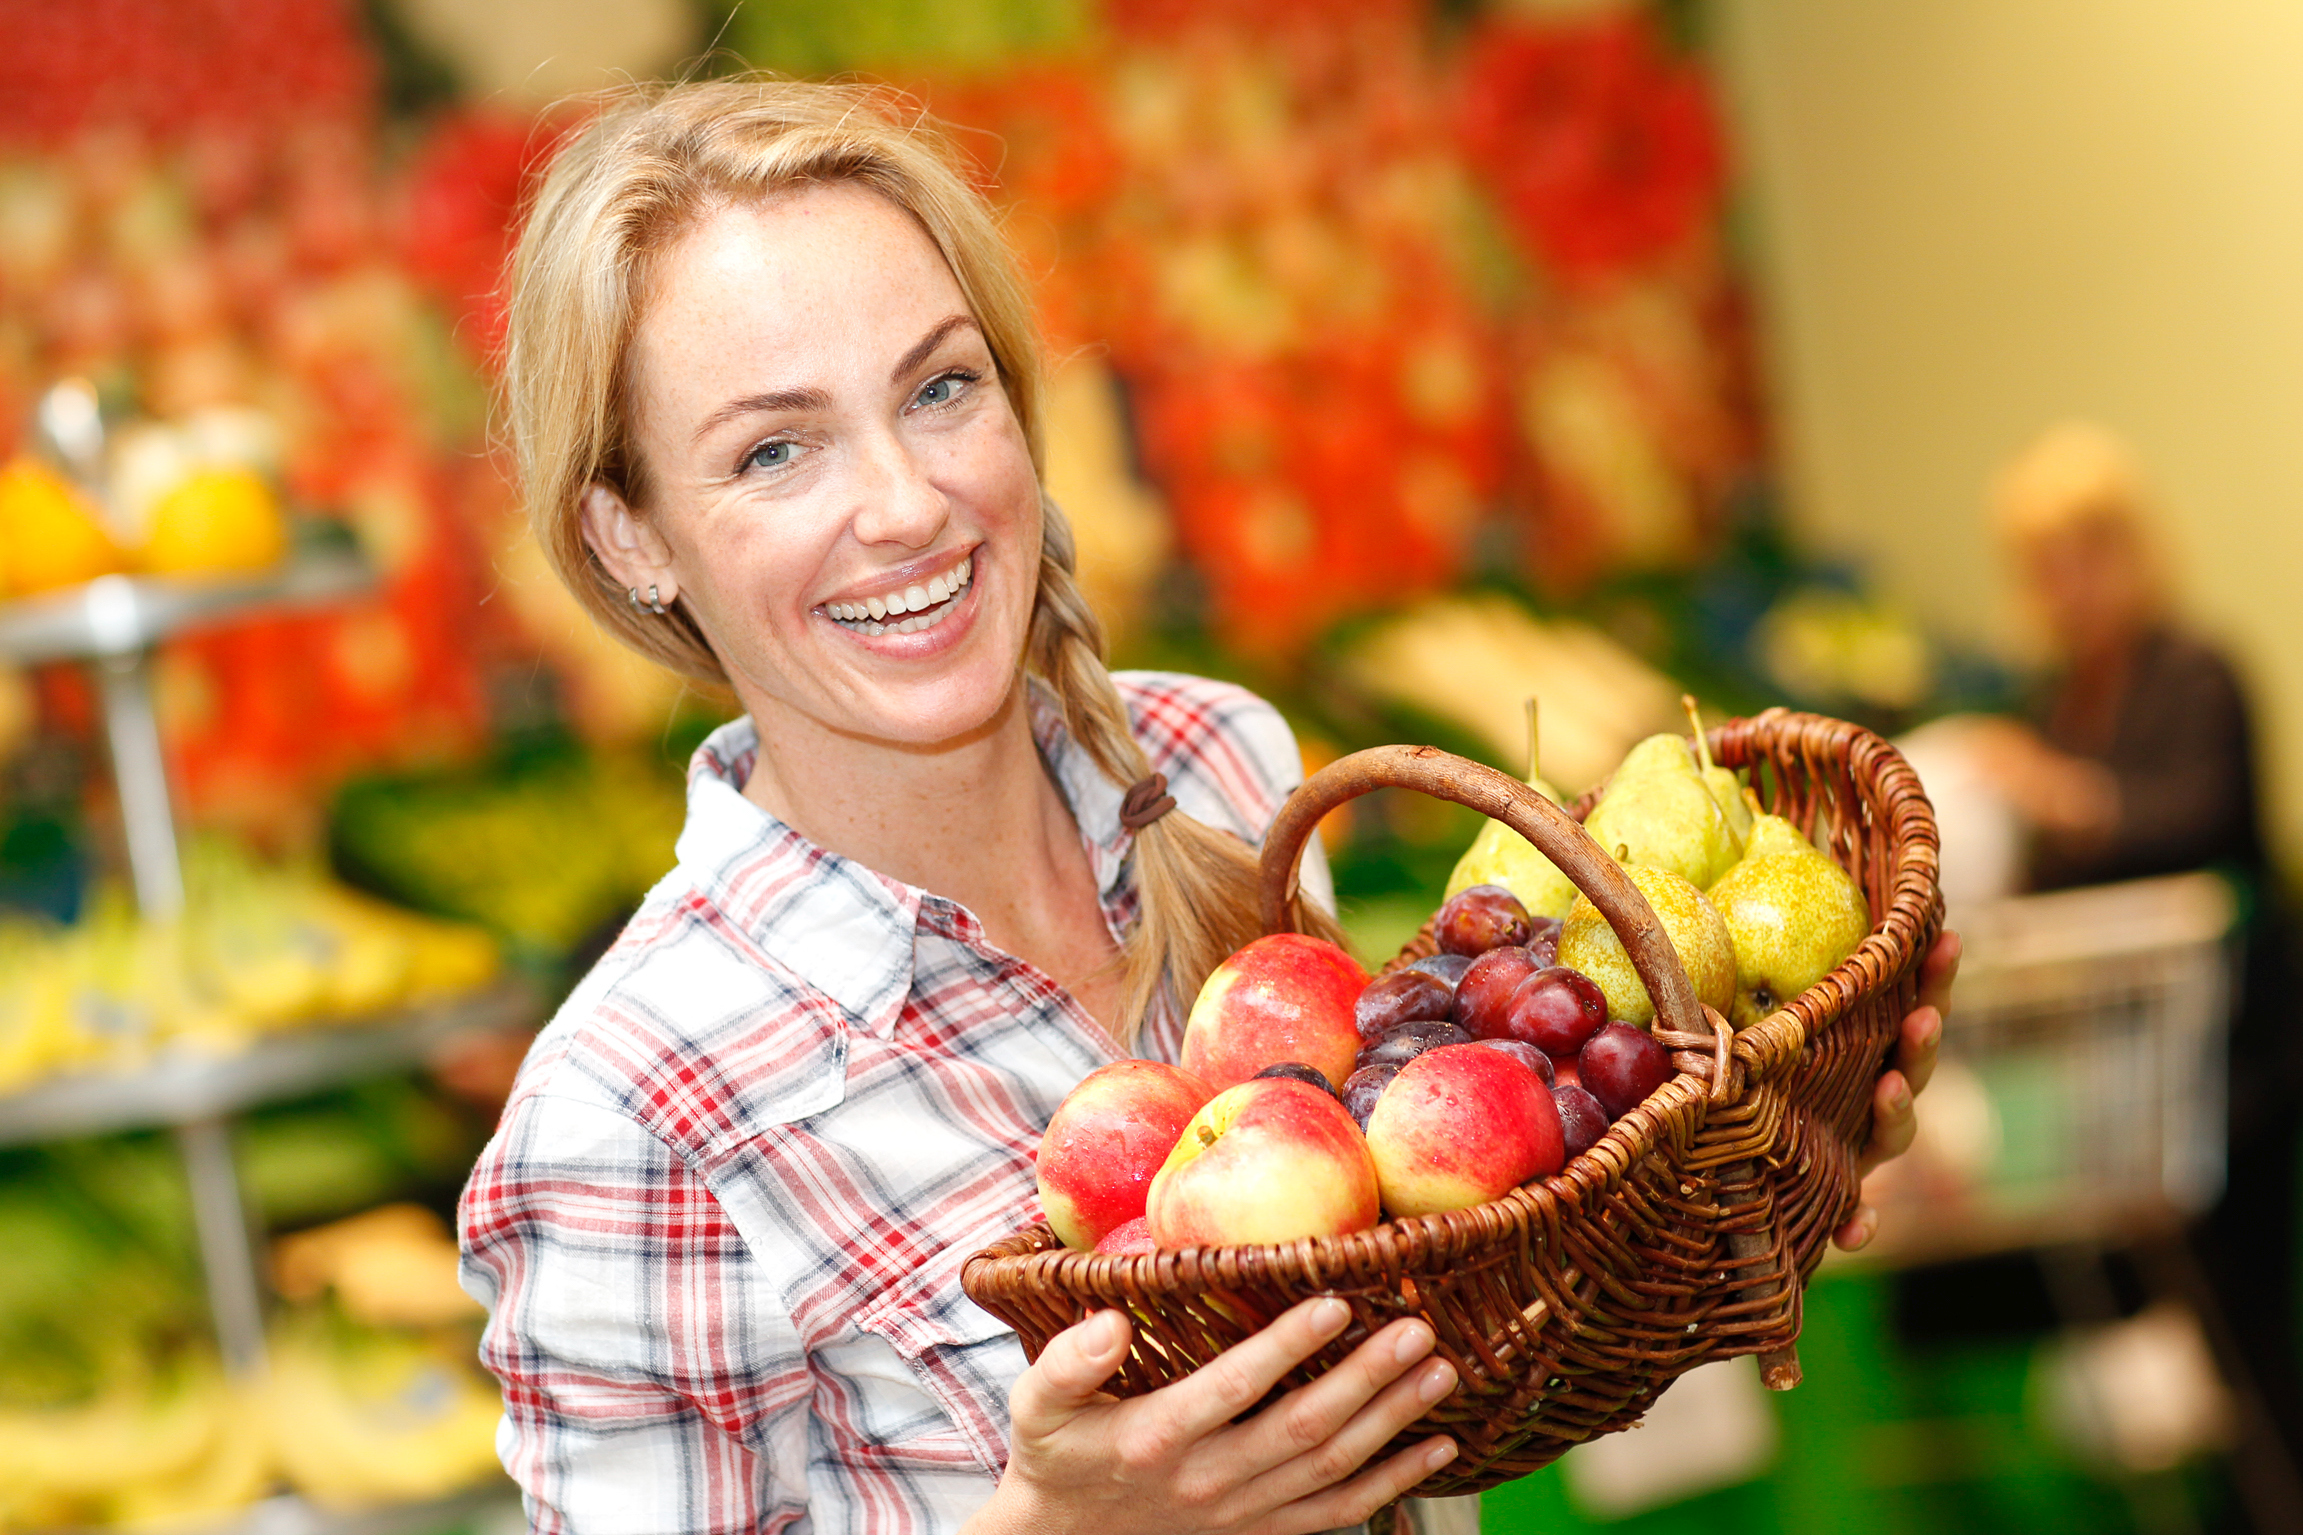
<path fill-rule="evenodd" d="M 1117 681 L 1177 803 L 1260 842 L 1301 780 L 1280 716 Z M 1122 787 L 1046 702 L 1032 727 L 1124 939 Z M 960 1263 L 1039 1217 L 1039 1135 L 1117 1052 L 963 907 L 746 801 L 755 750 L 737 720 L 696 753 L 679 865 L 537 1038 L 463 1194 L 539 1530 L 951 1530 L 1006 1461 L 1023 1346 Z M 1306 886 L 1331 904 L 1317 840 Z"/>

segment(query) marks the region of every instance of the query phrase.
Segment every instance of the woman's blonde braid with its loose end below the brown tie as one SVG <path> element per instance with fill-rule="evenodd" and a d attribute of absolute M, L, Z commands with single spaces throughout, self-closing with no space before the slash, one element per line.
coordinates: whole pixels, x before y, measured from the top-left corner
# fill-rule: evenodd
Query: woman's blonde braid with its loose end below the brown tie
<path fill-rule="evenodd" d="M 1115 785 L 1152 771 L 1128 711 L 1103 665 L 1103 624 L 1073 578 L 1064 513 L 1041 497 L 1039 598 L 1032 605 L 1027 665 L 1064 709 L 1064 727 Z M 1255 849 L 1227 831 L 1170 810 L 1135 833 L 1135 888 L 1142 918 L 1122 953 L 1122 1045 L 1158 1006 L 1188 1008 L 1207 973 L 1241 944 L 1262 937 Z M 1299 932 L 1340 944 L 1336 921 L 1297 898 Z"/>

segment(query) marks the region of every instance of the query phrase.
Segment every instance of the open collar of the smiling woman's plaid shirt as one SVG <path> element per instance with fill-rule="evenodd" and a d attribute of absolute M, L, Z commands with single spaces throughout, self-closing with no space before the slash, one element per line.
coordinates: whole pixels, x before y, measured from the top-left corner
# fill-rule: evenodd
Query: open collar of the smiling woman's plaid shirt
<path fill-rule="evenodd" d="M 1124 792 L 1078 748 L 1036 681 L 1029 704 L 1032 736 L 1071 803 L 1112 921 L 1135 842 L 1119 826 Z M 689 819 L 675 849 L 679 868 L 769 960 L 887 1036 L 912 990 L 919 930 L 974 944 L 983 930 L 965 907 L 818 847 L 744 799 L 758 755 L 760 734 L 748 716 L 696 748 Z"/>

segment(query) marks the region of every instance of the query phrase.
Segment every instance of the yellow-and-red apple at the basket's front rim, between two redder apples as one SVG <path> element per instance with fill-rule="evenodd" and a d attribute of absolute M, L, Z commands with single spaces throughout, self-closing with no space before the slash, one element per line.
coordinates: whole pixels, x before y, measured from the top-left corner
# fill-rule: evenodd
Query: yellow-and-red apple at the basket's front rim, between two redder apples
<path fill-rule="evenodd" d="M 1255 1077 L 1191 1116 L 1145 1215 L 1161 1250 L 1366 1231 L 1379 1215 L 1375 1162 L 1340 1102 L 1292 1077 Z"/>

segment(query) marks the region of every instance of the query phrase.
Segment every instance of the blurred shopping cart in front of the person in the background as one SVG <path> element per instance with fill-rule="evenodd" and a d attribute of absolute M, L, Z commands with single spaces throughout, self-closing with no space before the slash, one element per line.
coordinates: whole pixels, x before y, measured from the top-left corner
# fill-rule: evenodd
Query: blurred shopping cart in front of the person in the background
<path fill-rule="evenodd" d="M 1951 914 L 1967 944 L 1875 1257 L 1930 1263 L 2181 1229 L 2222 1190 L 2232 888 L 2215 875 Z"/>

